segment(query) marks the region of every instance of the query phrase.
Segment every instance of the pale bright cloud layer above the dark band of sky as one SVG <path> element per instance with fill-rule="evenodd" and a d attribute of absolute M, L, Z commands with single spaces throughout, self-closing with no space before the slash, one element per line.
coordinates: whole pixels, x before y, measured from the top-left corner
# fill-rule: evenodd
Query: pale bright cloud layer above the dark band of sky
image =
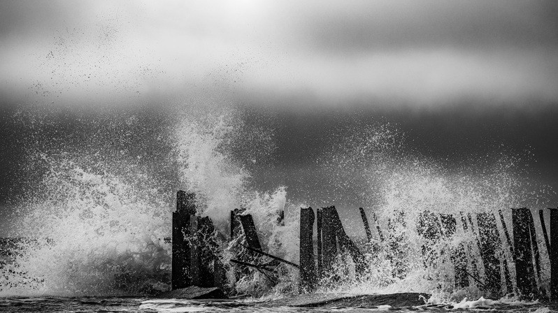
<path fill-rule="evenodd" d="M 1 1 L 0 92 L 73 105 L 207 93 L 287 106 L 555 103 L 557 16 L 555 1 L 523 0 Z"/>

